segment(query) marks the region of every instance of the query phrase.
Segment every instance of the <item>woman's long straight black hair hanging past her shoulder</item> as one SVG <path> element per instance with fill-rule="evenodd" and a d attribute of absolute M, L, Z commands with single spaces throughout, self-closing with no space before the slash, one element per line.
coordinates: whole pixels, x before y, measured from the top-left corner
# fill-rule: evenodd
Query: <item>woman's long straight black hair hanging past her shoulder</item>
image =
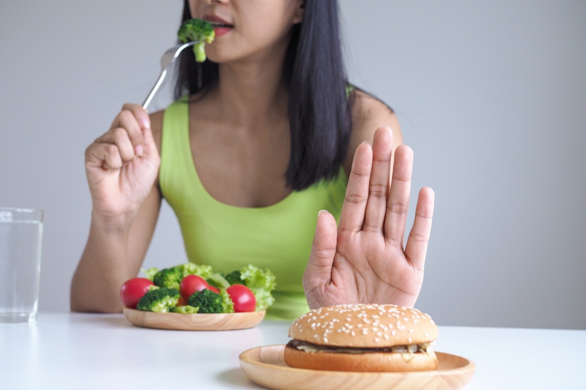
<path fill-rule="evenodd" d="M 350 139 L 351 98 L 342 58 L 338 1 L 305 0 L 303 21 L 293 26 L 285 54 L 291 156 L 287 185 L 301 190 L 335 177 Z M 184 0 L 182 22 L 192 18 Z M 205 94 L 218 82 L 218 65 L 196 63 L 192 50 L 179 58 L 175 98 Z"/>

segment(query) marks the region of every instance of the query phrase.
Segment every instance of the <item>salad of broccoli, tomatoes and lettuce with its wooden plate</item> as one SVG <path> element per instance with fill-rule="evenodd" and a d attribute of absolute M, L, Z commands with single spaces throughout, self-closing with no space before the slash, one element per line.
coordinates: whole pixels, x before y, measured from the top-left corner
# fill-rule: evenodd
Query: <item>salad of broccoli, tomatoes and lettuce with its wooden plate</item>
<path fill-rule="evenodd" d="M 128 279 L 124 316 L 136 326 L 171 330 L 236 330 L 257 326 L 274 302 L 275 276 L 247 265 L 229 274 L 186 263 Z"/>

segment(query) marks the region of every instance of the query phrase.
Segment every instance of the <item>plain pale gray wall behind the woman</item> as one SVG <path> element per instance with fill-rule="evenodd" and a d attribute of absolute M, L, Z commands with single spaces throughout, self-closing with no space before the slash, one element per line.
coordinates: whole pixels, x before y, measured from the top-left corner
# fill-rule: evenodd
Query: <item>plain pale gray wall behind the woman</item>
<path fill-rule="evenodd" d="M 586 2 L 340 5 L 350 80 L 396 110 L 415 194 L 435 190 L 418 308 L 440 325 L 586 329 Z M 69 310 L 90 218 L 84 149 L 147 95 L 180 9 L 0 5 L 0 205 L 45 209 L 41 310 Z M 183 261 L 164 205 L 145 267 Z"/>

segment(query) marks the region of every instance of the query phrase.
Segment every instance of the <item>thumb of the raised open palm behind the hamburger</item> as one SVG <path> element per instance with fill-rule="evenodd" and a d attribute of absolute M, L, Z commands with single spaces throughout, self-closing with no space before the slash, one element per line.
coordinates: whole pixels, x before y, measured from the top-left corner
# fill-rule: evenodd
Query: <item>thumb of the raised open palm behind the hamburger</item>
<path fill-rule="evenodd" d="M 314 242 L 303 277 L 304 288 L 311 291 L 332 279 L 332 264 L 336 254 L 336 219 L 326 210 L 318 214 Z"/>

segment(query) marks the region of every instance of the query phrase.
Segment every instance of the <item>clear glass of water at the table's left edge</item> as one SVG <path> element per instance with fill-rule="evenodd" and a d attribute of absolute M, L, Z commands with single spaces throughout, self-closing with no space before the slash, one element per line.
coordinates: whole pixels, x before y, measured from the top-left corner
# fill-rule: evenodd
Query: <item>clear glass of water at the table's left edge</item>
<path fill-rule="evenodd" d="M 0 207 L 0 322 L 35 322 L 43 210 Z"/>

